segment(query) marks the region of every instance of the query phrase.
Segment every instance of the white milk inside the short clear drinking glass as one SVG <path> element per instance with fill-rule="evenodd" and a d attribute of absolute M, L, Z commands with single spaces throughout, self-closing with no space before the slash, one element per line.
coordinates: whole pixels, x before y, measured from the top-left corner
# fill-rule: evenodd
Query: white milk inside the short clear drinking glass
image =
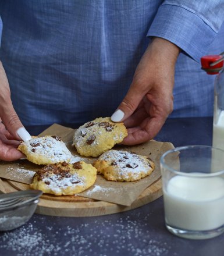
<path fill-rule="evenodd" d="M 183 230 L 212 230 L 224 225 L 221 177 L 172 177 L 163 189 L 166 223 Z"/>

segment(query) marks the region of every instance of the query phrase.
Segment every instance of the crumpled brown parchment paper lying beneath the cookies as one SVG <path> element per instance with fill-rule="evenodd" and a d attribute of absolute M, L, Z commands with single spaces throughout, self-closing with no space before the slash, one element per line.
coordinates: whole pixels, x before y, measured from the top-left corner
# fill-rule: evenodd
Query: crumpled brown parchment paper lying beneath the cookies
<path fill-rule="evenodd" d="M 64 127 L 61 125 L 54 124 L 48 127 L 47 130 L 43 131 L 40 136 L 44 135 L 57 135 L 62 138 L 62 141 L 66 144 L 67 148 L 73 154 L 73 162 L 85 161 L 87 163 L 93 163 L 97 158 L 81 157 L 75 147 L 72 147 L 72 139 L 74 135 L 74 129 Z M 115 204 L 130 206 L 138 196 L 152 183 L 156 182 L 161 177 L 159 158 L 163 152 L 170 150 L 173 147 L 172 143 L 163 143 L 155 140 L 148 141 L 147 143 L 134 145 L 134 146 L 123 146 L 116 145 L 113 147 L 114 150 L 127 150 L 135 152 L 136 154 L 145 155 L 150 157 L 155 163 L 155 169 L 150 176 L 145 177 L 137 182 L 110 182 L 101 175 L 97 175 L 95 184 L 88 190 L 83 191 L 79 195 L 82 197 L 93 198 L 99 201 L 113 202 Z M 37 171 L 42 166 L 35 165 L 29 161 L 16 161 L 7 164 L 8 168 L 23 170 Z M 5 166 L 0 165 L 1 168 L 5 169 Z M 22 173 L 20 173 L 20 176 Z"/>

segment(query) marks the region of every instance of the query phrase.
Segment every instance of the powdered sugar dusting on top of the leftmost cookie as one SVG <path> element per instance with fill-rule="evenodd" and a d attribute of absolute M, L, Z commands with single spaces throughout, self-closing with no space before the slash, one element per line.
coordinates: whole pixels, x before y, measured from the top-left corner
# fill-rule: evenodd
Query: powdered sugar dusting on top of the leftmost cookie
<path fill-rule="evenodd" d="M 51 136 L 33 138 L 23 142 L 31 154 L 41 155 L 41 157 L 51 159 L 52 163 L 69 161 L 72 157 L 63 141 L 56 140 Z"/>

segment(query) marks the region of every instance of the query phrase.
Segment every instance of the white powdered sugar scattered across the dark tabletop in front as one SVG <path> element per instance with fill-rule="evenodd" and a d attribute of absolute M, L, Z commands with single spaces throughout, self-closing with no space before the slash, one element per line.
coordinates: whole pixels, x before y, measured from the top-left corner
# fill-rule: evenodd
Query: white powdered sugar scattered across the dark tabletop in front
<path fill-rule="evenodd" d="M 133 214 L 134 215 L 134 214 Z M 33 222 L 13 232 L 2 233 L 0 250 L 16 256 L 165 256 L 170 244 L 151 237 L 147 219 L 139 216 L 81 218 L 72 226 L 72 218 L 33 217 Z M 90 221 L 88 221 L 90 220 Z M 48 221 L 48 223 L 47 223 Z M 40 229 L 40 222 L 44 231 Z M 46 222 L 46 223 L 45 223 Z M 70 223 L 69 225 L 65 225 Z M 176 253 L 172 254 L 177 255 Z"/>

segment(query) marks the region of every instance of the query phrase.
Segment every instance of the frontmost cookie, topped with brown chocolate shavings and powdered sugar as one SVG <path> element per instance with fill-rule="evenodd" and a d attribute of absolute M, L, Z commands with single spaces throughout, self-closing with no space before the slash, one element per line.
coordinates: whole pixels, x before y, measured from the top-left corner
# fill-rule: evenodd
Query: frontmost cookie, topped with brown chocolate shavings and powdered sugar
<path fill-rule="evenodd" d="M 74 195 L 91 187 L 97 179 L 97 169 L 83 161 L 55 163 L 38 170 L 31 189 L 54 195 Z"/>

